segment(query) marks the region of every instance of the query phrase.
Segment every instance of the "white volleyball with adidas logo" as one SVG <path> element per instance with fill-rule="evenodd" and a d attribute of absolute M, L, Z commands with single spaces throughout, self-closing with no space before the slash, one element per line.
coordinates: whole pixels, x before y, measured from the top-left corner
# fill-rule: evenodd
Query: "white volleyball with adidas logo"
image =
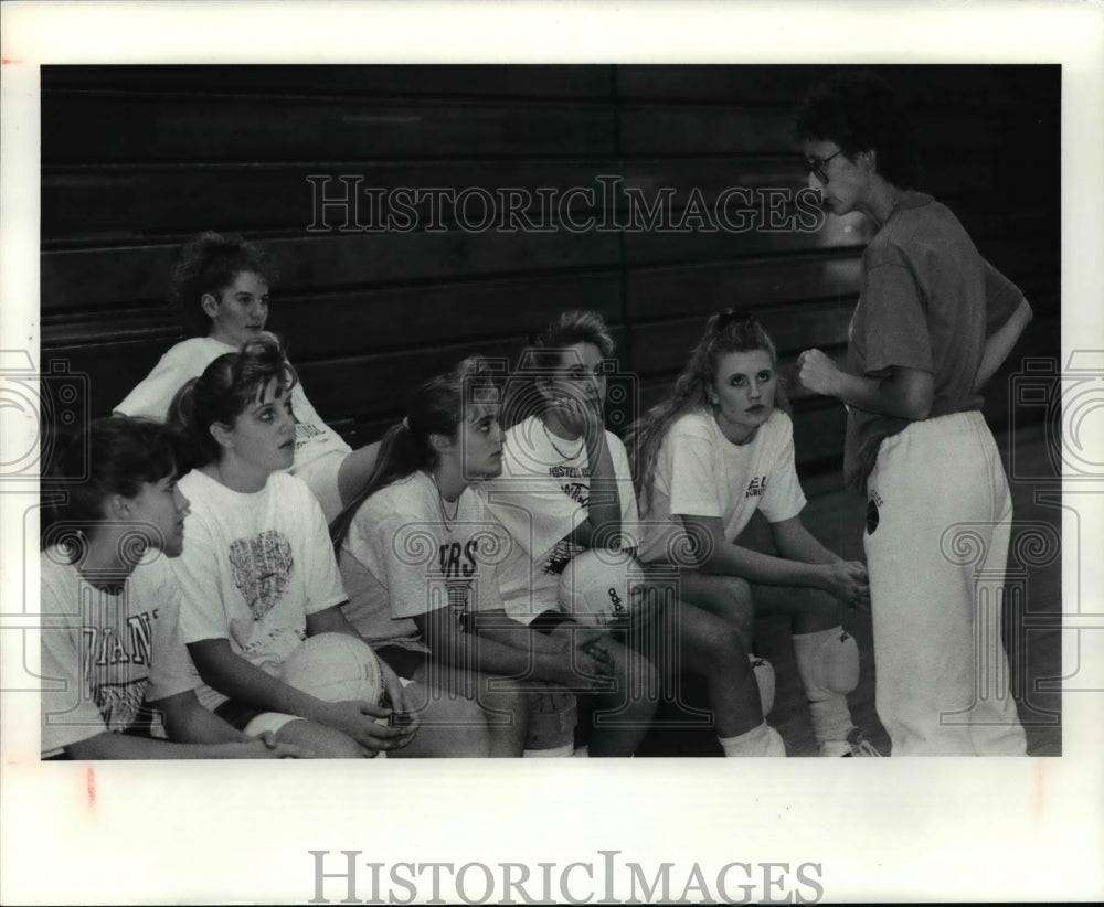
<path fill-rule="evenodd" d="M 573 557 L 560 574 L 560 607 L 580 623 L 626 626 L 644 613 L 644 569 L 630 554 L 592 549 Z"/>

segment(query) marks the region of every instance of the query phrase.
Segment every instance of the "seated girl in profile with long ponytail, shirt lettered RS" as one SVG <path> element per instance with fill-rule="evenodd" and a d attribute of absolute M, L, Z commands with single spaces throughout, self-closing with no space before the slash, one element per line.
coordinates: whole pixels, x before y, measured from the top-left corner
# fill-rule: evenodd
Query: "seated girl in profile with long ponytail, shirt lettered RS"
<path fill-rule="evenodd" d="M 567 659 L 488 632 L 506 620 L 502 537 L 473 484 L 501 471 L 498 410 L 498 390 L 478 359 L 423 384 L 406 420 L 384 437 L 361 500 L 332 530 L 353 627 L 401 676 L 476 696 L 500 738 L 496 755 L 518 756 L 527 697 L 505 677 L 565 686 L 592 680 Z M 601 673 L 593 660 L 587 666 Z"/>

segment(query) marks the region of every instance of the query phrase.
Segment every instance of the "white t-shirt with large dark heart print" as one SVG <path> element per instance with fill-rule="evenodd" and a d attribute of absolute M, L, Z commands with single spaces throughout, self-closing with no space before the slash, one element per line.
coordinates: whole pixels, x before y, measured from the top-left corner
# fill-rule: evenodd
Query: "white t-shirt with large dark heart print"
<path fill-rule="evenodd" d="M 179 488 L 191 501 L 184 551 L 172 562 L 184 642 L 227 639 L 235 654 L 276 676 L 307 638 L 307 615 L 346 600 L 318 501 L 284 472 L 253 494 L 199 470 Z M 208 708 L 227 698 L 206 685 L 197 693 Z"/>

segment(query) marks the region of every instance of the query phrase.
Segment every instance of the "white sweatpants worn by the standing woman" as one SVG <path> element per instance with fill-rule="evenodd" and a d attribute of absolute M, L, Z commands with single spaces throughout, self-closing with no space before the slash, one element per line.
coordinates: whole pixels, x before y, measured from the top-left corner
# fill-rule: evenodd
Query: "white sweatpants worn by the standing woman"
<path fill-rule="evenodd" d="M 875 702 L 893 756 L 1022 756 L 1000 639 L 1012 521 L 980 413 L 910 425 L 882 441 L 863 544 Z"/>

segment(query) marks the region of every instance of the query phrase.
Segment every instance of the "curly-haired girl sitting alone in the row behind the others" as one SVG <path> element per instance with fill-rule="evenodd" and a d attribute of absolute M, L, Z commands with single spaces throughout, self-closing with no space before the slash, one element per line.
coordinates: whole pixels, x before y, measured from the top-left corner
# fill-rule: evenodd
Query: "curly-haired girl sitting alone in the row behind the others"
<path fill-rule="evenodd" d="M 192 337 L 161 356 L 116 412 L 163 422 L 185 381 L 264 331 L 274 277 L 268 255 L 240 236 L 208 232 L 192 237 L 173 267 L 169 292 Z M 291 391 L 291 406 L 296 422 L 291 472 L 315 492 L 327 521 L 332 520 L 368 480 L 379 445 L 352 450 L 322 422 L 300 384 Z"/>

